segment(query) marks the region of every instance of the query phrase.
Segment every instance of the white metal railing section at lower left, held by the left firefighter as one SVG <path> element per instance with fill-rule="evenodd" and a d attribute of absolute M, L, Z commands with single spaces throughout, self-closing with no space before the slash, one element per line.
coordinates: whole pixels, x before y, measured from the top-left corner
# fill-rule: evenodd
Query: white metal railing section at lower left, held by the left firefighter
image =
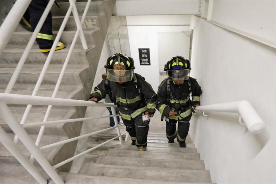
<path fill-rule="evenodd" d="M 112 128 L 108 128 L 108 129 L 104 129 L 104 130 L 100 130 L 97 132 L 93 132 L 93 133 L 88 133 L 85 135 L 81 135 L 78 137 L 74 137 L 71 139 L 67 139 L 64 141 L 60 141 L 57 143 L 53 143 L 53 144 L 49 144 L 43 147 L 38 148 L 33 142 L 32 139 L 30 138 L 30 136 L 28 135 L 28 133 L 24 130 L 23 126 L 28 126 L 27 124 L 23 125 L 23 124 L 19 124 L 18 121 L 16 120 L 16 118 L 14 117 L 14 115 L 12 114 L 11 110 L 9 109 L 9 107 L 7 106 L 7 104 L 31 104 L 31 105 L 55 105 L 55 106 L 103 106 L 103 107 L 107 107 L 107 106 L 111 106 L 112 112 L 114 115 L 114 121 L 115 121 L 115 127 Z M 118 121 L 116 118 L 116 113 L 115 113 L 115 109 L 114 109 L 115 105 L 114 104 L 110 104 L 110 103 L 101 103 L 98 102 L 97 104 L 93 101 L 83 101 L 83 100 L 74 100 L 74 99 L 62 99 L 62 98 L 52 98 L 52 97 L 38 97 L 38 96 L 29 96 L 29 95 L 16 95 L 16 94 L 8 94 L 8 93 L 0 93 L 0 115 L 2 116 L 2 118 L 5 120 L 5 122 L 9 125 L 9 127 L 12 129 L 12 131 L 14 131 L 14 133 L 16 133 L 18 135 L 18 137 L 20 138 L 20 140 L 22 141 L 22 143 L 25 145 L 25 147 L 30 151 L 30 153 L 32 155 L 34 155 L 34 158 L 39 162 L 39 164 L 42 166 L 42 168 L 46 171 L 46 173 L 51 177 L 51 179 L 53 179 L 53 181 L 55 183 L 64 183 L 62 181 L 62 179 L 57 175 L 57 173 L 55 172 L 55 168 L 62 166 L 70 161 L 72 161 L 74 158 L 77 158 L 79 156 L 82 156 L 83 154 L 86 154 L 94 149 L 96 149 L 97 147 L 100 147 L 101 145 L 104 145 L 116 138 L 119 138 L 120 143 L 122 143 L 122 135 L 126 134 L 127 132 L 121 134 L 120 130 L 119 130 L 119 126 L 118 125 Z M 110 116 L 106 116 L 106 117 L 110 117 Z M 94 117 L 95 118 L 95 117 Z M 101 118 L 101 117 L 99 117 Z M 78 118 L 81 119 L 81 118 Z M 90 118 L 92 119 L 92 118 Z M 72 120 L 72 122 L 76 122 L 77 119 Z M 62 120 L 62 121 L 71 121 L 71 120 Z M 79 121 L 79 120 L 78 120 Z M 53 124 L 54 121 L 50 122 L 51 124 Z M 39 122 L 39 123 L 47 123 L 47 122 Z M 56 122 L 56 123 L 61 123 L 61 122 Z M 32 124 L 32 123 L 30 123 Z M 33 123 L 36 124 L 36 123 Z M 47 161 L 47 159 L 45 158 L 45 156 L 41 153 L 41 150 L 44 150 L 46 148 L 50 148 L 50 147 L 54 147 L 57 145 L 61 145 L 64 143 L 68 143 L 74 140 L 78 140 L 84 137 L 88 137 L 90 135 L 94 135 L 97 133 L 101 133 L 104 131 L 108 131 L 110 129 L 118 129 L 117 133 L 118 136 L 104 142 L 101 143 L 89 150 L 86 150 L 78 155 L 75 155 L 67 160 L 64 160 L 62 162 L 60 162 L 59 164 L 56 164 L 55 166 L 51 166 L 49 164 L 49 162 Z M 7 134 L 5 133 L 5 131 L 3 131 L 2 134 L 0 134 L 0 137 L 7 137 Z M 2 142 L 2 139 L 0 139 L 0 141 Z M 4 144 L 5 145 L 5 144 Z M 9 148 L 11 148 L 14 145 L 14 143 L 12 145 L 8 145 Z M 14 145 L 15 146 L 15 145 Z M 13 155 L 16 155 L 16 152 L 11 152 Z M 18 153 L 21 154 L 21 153 Z M 21 160 L 18 160 L 22 161 Z M 24 162 L 24 160 L 23 160 Z M 28 167 L 28 166 L 27 166 Z M 30 168 L 28 168 L 30 170 Z M 30 171 L 32 172 L 32 170 Z M 31 173 L 32 175 L 35 174 L 37 175 L 37 173 Z M 35 178 L 37 178 L 39 176 L 36 176 Z M 40 181 L 39 181 L 40 180 Z M 41 178 L 39 178 L 39 183 L 44 184 L 44 180 L 41 180 Z"/>

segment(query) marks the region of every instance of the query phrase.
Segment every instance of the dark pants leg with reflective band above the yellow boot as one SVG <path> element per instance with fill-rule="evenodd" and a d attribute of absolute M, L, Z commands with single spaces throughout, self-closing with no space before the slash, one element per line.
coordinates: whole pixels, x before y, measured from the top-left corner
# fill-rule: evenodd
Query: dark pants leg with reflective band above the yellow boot
<path fill-rule="evenodd" d="M 32 31 L 37 27 L 38 21 L 41 18 L 48 0 L 32 0 L 28 11 L 30 14 L 30 24 L 32 26 Z M 37 43 L 40 49 L 49 49 L 53 45 L 52 41 L 53 32 L 52 32 L 52 14 L 49 12 L 39 34 L 37 35 Z"/>

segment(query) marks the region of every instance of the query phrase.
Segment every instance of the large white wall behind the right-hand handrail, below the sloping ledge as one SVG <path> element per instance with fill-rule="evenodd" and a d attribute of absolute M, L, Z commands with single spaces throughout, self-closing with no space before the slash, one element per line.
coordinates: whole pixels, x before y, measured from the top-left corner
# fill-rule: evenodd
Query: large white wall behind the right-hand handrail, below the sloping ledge
<path fill-rule="evenodd" d="M 236 114 L 193 116 L 189 133 L 212 182 L 275 184 L 276 49 L 196 16 L 191 24 L 191 76 L 203 89 L 202 105 L 248 100 L 266 125 L 252 135 Z"/>

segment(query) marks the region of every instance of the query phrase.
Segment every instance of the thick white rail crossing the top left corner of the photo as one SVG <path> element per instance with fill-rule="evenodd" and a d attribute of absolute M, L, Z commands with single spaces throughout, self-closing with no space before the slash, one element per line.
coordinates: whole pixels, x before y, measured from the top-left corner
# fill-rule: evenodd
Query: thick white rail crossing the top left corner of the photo
<path fill-rule="evenodd" d="M 0 27 L 0 55 L 9 42 L 12 33 L 16 29 L 30 2 L 31 0 L 16 1 L 2 23 Z"/>

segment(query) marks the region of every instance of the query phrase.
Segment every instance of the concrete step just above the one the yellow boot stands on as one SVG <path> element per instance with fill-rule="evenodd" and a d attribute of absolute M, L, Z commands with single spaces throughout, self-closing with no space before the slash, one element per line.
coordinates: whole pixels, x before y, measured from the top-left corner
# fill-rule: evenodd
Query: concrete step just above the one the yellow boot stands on
<path fill-rule="evenodd" d="M 62 41 L 65 46 L 69 47 L 73 41 L 75 33 L 76 31 L 64 31 L 62 33 L 60 41 Z M 53 38 L 55 38 L 56 35 L 57 35 L 57 32 L 54 31 Z M 95 38 L 99 37 L 100 30 L 98 28 L 97 30 L 84 31 L 84 35 L 85 35 L 87 45 L 93 45 L 94 44 L 93 37 Z M 27 45 L 31 36 L 32 36 L 32 32 L 28 32 L 28 31 L 14 32 L 13 35 L 11 36 L 11 39 L 9 39 L 8 45 Z M 36 42 L 34 44 L 37 45 Z M 76 41 L 76 45 L 81 45 L 81 39 L 79 37 Z"/>

